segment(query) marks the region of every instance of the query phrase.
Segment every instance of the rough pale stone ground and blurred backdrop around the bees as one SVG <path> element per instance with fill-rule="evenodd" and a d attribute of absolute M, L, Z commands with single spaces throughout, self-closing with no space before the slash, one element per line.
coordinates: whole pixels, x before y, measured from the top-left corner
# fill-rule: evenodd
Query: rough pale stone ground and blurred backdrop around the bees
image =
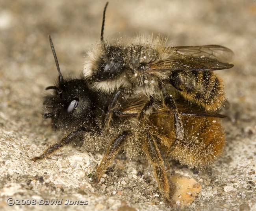
<path fill-rule="evenodd" d="M 99 40 L 105 1 L 0 0 L 0 209 L 170 210 L 145 160 L 115 160 L 101 184 L 89 176 L 102 154 L 63 148 L 45 161 L 30 158 L 59 139 L 41 118 L 44 88 L 57 76 L 47 35 L 64 75 L 79 76 L 83 56 Z M 223 120 L 226 148 L 212 167 L 194 171 L 170 161 L 168 173 L 202 185 L 184 210 L 256 210 L 256 2 L 110 1 L 105 37 L 138 32 L 169 35 L 173 45 L 221 44 L 235 67 L 220 71 L 230 102 Z M 8 206 L 7 198 L 88 200 L 88 205 Z M 121 207 L 121 208 L 120 208 Z"/>

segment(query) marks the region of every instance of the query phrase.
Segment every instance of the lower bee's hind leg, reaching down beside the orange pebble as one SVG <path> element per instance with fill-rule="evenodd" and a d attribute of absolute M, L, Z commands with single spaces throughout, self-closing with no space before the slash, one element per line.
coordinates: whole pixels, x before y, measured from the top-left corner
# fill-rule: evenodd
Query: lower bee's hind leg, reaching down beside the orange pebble
<path fill-rule="evenodd" d="M 158 183 L 158 188 L 168 201 L 170 201 L 170 185 L 165 173 L 163 159 L 158 150 L 158 146 L 156 141 L 152 138 L 152 136 L 147 133 L 147 139 L 145 140 L 144 149 L 147 154 L 148 161 L 152 164 L 154 177 Z"/>

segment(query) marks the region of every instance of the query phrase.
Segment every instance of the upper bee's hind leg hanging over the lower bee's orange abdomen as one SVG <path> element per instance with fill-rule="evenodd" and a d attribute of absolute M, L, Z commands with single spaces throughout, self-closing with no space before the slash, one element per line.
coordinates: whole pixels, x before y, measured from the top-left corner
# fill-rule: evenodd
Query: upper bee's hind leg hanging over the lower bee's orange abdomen
<path fill-rule="evenodd" d="M 171 95 L 165 97 L 164 103 L 165 103 L 165 106 L 167 106 L 168 109 L 170 109 L 171 112 L 173 112 L 176 139 L 182 140 L 184 138 L 184 128 L 181 120 L 181 115 L 180 113 L 178 113 L 178 109 L 176 107 L 173 97 Z"/>

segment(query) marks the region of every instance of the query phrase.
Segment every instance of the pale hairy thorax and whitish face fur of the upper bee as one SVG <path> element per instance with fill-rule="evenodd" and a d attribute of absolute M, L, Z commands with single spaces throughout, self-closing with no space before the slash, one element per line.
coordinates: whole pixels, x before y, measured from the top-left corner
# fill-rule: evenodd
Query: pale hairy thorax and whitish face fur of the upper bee
<path fill-rule="evenodd" d="M 147 73 L 141 71 L 138 66 L 142 63 L 154 63 L 170 57 L 170 53 L 166 51 L 166 43 L 167 38 L 160 35 L 156 37 L 138 35 L 132 39 L 121 37 L 106 41 L 106 48 L 117 47 L 121 50 L 126 68 L 120 76 L 114 79 L 91 82 L 92 89 L 113 93 L 120 87 L 125 87 L 133 88 L 132 91 L 136 94 L 150 96 L 156 93 L 156 90 L 159 89 L 157 80 L 167 78 L 168 73 L 154 71 Z M 100 43 L 95 44 L 92 49 L 87 51 L 83 70 L 85 79 L 90 79 L 97 74 L 105 54 Z"/>

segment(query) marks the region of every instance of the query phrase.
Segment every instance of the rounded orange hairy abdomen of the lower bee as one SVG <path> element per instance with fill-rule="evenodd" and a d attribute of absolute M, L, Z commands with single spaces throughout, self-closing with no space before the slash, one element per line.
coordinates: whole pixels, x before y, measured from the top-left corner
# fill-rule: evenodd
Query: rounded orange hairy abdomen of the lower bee
<path fill-rule="evenodd" d="M 189 167 L 204 167 L 213 163 L 221 154 L 225 138 L 218 118 L 182 117 L 184 140 L 175 141 L 173 117 L 161 115 L 154 118 L 161 144 L 168 155 Z"/>

